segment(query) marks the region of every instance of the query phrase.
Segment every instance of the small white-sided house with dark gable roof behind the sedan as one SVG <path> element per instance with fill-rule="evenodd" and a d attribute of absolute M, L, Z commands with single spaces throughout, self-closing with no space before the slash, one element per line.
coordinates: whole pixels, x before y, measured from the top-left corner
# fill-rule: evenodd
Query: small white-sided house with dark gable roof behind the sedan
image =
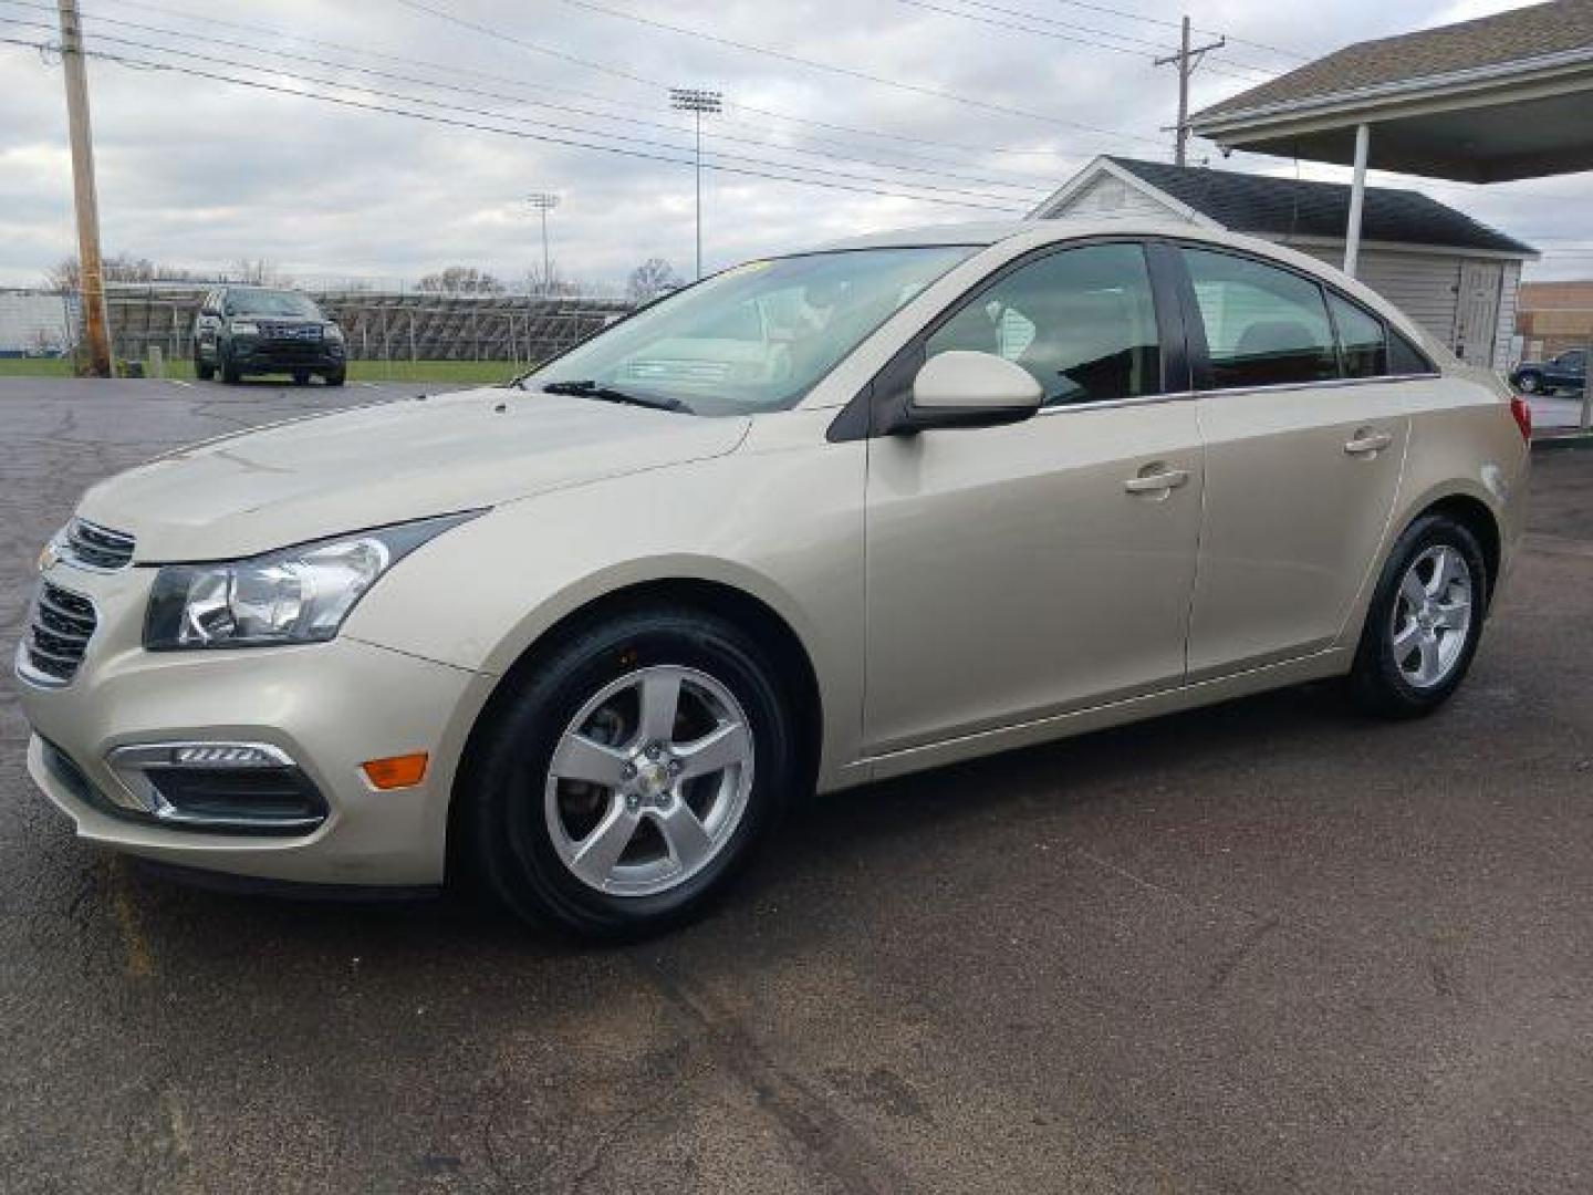
<path fill-rule="evenodd" d="M 1338 266 L 1349 193 L 1343 183 L 1102 156 L 1029 215 L 1185 220 Z M 1521 263 L 1536 258 L 1531 245 L 1419 191 L 1365 190 L 1357 276 L 1464 360 L 1509 363 Z"/>

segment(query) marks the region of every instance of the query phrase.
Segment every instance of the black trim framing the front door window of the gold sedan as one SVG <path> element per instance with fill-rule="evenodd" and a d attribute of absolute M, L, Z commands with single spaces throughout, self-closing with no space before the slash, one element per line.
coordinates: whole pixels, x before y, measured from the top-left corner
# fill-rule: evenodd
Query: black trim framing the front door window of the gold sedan
<path fill-rule="evenodd" d="M 1176 402 L 1195 397 L 1192 378 L 1193 346 L 1187 338 L 1187 317 L 1184 304 L 1179 301 L 1177 276 L 1182 269 L 1177 252 L 1171 249 L 1164 237 L 1120 233 L 1083 236 L 1069 241 L 1051 241 L 1043 245 L 1020 253 L 1010 261 L 972 282 L 953 300 L 949 300 L 933 319 L 918 328 L 905 344 L 902 344 L 875 376 L 852 397 L 840 414 L 832 421 L 825 438 L 830 443 L 846 443 L 851 440 L 883 438 L 895 433 L 906 408 L 906 395 L 911 390 L 911 379 L 924 362 L 924 349 L 930 336 L 957 315 L 980 293 L 1002 282 L 1002 279 L 1024 269 L 1035 261 L 1042 261 L 1056 253 L 1074 249 L 1091 249 L 1096 245 L 1137 245 L 1145 258 L 1145 274 L 1150 280 L 1150 298 L 1157 320 L 1157 336 L 1161 355 L 1161 384 L 1155 394 L 1142 394 L 1129 398 L 1099 398 L 1083 403 L 1059 403 L 1035 413 L 1040 416 L 1069 414 L 1078 411 L 1101 411 L 1115 406 L 1136 406 L 1149 403 Z"/>

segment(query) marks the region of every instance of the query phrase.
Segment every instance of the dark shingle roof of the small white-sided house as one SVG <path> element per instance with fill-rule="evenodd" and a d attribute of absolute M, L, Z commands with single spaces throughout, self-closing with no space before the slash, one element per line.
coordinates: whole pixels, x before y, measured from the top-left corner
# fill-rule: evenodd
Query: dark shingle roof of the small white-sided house
<path fill-rule="evenodd" d="M 1204 166 L 1107 158 L 1158 191 L 1235 233 L 1343 237 L 1349 186 L 1276 178 Z M 1419 191 L 1368 186 L 1360 214 L 1365 241 L 1478 249 L 1536 257 L 1537 250 Z"/>

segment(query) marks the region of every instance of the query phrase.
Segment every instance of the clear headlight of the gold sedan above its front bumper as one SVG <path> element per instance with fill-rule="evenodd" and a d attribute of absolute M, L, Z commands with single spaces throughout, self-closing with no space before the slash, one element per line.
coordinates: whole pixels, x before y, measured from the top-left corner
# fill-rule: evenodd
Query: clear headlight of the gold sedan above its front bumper
<path fill-rule="evenodd" d="M 143 623 L 153 652 L 319 644 L 411 551 L 483 511 L 401 523 L 220 564 L 167 564 Z"/>

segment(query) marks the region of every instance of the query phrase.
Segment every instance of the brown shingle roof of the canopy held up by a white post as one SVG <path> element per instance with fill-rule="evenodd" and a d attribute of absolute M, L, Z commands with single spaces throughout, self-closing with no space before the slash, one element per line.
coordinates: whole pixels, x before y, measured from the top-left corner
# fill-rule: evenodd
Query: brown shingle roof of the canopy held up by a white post
<path fill-rule="evenodd" d="M 1593 48 L 1593 0 L 1550 0 L 1456 25 L 1357 41 L 1214 104 L 1195 113 L 1193 123 L 1587 48 Z"/>

